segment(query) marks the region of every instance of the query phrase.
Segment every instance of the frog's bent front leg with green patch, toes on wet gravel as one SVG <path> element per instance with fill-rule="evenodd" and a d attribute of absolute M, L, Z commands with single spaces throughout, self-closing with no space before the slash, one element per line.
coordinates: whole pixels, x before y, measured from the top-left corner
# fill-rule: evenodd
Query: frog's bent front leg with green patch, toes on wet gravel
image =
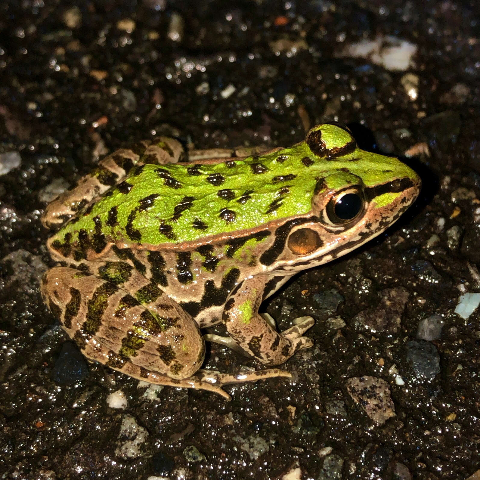
<path fill-rule="evenodd" d="M 268 318 L 258 313 L 260 304 L 271 293 L 266 290 L 272 280 L 268 275 L 244 280 L 233 290 L 223 314 L 230 337 L 246 353 L 266 365 L 283 363 L 297 350 L 313 345 L 311 338 L 302 336 L 314 324 L 312 317 L 303 317 L 300 323 L 279 333 Z"/>

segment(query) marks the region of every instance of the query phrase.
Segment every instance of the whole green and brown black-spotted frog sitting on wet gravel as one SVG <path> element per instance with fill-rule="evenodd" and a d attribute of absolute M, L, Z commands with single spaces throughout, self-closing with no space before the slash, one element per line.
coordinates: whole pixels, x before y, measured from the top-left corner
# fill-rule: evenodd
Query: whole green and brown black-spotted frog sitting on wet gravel
<path fill-rule="evenodd" d="M 91 362 L 229 400 L 227 384 L 292 374 L 314 320 L 279 332 L 259 309 L 292 276 L 360 247 L 417 198 L 420 178 L 324 123 L 303 141 L 237 155 L 157 137 L 106 156 L 41 217 L 57 231 L 42 278 L 51 313 Z M 223 325 L 223 327 L 222 327 Z M 226 335 L 203 334 L 220 326 Z M 202 369 L 205 342 L 265 369 Z"/>

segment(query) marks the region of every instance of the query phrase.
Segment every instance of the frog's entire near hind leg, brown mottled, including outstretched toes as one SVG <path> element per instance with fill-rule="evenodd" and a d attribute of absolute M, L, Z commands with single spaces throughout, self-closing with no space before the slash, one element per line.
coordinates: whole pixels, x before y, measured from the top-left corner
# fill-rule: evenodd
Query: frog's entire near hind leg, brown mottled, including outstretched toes
<path fill-rule="evenodd" d="M 207 390 L 227 400 L 223 385 L 291 377 L 279 369 L 233 375 L 198 370 L 204 341 L 197 324 L 174 300 L 125 265 L 99 263 L 97 275 L 55 267 L 43 278 L 45 302 L 87 359 L 138 380 Z"/>

